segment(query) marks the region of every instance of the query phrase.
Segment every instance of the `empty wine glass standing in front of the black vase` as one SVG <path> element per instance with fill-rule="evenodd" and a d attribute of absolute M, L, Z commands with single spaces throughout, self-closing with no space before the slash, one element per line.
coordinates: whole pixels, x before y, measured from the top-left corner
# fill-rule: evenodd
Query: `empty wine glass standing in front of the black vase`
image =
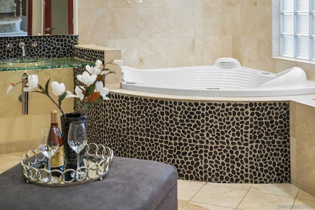
<path fill-rule="evenodd" d="M 72 122 L 68 131 L 68 145 L 77 153 L 77 171 L 71 173 L 71 177 L 76 180 L 82 180 L 86 177 L 86 172 L 80 170 L 80 151 L 87 145 L 87 132 L 85 124 L 82 121 Z"/>

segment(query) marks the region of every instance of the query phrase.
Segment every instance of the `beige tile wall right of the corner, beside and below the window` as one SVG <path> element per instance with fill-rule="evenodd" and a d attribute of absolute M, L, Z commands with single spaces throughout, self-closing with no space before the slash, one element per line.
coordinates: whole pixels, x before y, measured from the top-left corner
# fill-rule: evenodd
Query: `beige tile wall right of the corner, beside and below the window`
<path fill-rule="evenodd" d="M 243 66 L 273 73 L 299 66 L 306 71 L 308 79 L 315 80 L 314 64 L 272 58 L 279 55 L 279 40 L 275 39 L 279 37 L 279 27 L 272 25 L 279 18 L 279 2 L 232 0 L 232 55 Z"/>

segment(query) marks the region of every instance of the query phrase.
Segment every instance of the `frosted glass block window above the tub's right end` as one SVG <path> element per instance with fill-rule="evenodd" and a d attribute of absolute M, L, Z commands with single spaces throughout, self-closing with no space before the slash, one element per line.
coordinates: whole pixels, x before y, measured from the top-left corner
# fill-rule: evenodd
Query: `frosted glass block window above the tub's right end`
<path fill-rule="evenodd" d="M 315 0 L 281 0 L 281 55 L 315 60 Z"/>

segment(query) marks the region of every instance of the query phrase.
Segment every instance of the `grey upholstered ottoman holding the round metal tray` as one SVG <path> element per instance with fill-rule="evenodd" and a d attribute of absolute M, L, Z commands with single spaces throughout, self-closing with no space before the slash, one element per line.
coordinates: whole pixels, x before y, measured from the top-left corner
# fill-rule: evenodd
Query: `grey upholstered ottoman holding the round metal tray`
<path fill-rule="evenodd" d="M 102 181 L 65 187 L 26 184 L 20 165 L 0 174 L 3 210 L 177 210 L 175 167 L 114 157 Z"/>

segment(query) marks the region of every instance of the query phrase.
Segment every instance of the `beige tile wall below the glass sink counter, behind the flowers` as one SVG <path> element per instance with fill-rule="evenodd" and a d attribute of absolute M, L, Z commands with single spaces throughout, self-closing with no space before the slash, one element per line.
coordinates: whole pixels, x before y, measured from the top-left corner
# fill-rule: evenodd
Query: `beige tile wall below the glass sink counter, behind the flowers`
<path fill-rule="evenodd" d="M 22 115 L 22 103 L 18 100 L 22 92 L 21 84 L 17 85 L 13 94 L 6 94 L 10 83 L 18 82 L 24 71 L 1 71 L 0 89 L 0 153 L 17 152 L 35 149 L 38 146 L 39 131 L 42 126 L 50 126 L 50 110 L 57 107 L 43 94 L 29 93 L 29 114 Z M 28 70 L 28 75 L 36 74 L 39 84 L 45 86 L 46 81 L 63 82 L 66 90 L 73 89 L 72 68 L 60 68 L 54 70 Z M 49 89 L 51 91 L 51 87 Z M 57 96 L 52 94 L 52 98 Z M 73 111 L 73 99 L 64 99 L 63 111 Z M 59 116 L 61 112 L 58 110 Z M 60 122 L 59 122 L 60 124 Z"/>

